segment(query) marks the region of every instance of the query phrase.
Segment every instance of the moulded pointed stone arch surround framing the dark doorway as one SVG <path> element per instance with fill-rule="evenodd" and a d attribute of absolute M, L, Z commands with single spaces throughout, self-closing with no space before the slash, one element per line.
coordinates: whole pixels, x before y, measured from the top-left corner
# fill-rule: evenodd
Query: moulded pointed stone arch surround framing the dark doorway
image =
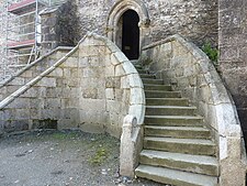
<path fill-rule="evenodd" d="M 148 44 L 149 37 L 149 24 L 150 19 L 148 10 L 145 3 L 142 0 L 119 0 L 111 9 L 108 22 L 106 22 L 106 35 L 109 40 L 113 41 L 116 45 L 120 46 L 117 34 L 120 32 L 120 19 L 124 12 L 127 10 L 134 10 L 139 17 L 139 48 L 145 44 Z"/>

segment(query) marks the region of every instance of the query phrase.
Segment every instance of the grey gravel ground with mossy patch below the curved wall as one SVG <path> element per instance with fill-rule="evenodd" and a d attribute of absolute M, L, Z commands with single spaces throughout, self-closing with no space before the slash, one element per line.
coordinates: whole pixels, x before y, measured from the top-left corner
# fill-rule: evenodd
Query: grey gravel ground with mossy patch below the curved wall
<path fill-rule="evenodd" d="M 0 139 L 0 186 L 161 186 L 119 175 L 120 141 L 81 131 L 32 131 Z"/>

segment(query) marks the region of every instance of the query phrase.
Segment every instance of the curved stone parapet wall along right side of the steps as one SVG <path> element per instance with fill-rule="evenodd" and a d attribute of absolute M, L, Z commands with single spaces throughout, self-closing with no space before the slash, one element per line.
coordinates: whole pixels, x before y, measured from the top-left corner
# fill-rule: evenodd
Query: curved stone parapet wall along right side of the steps
<path fill-rule="evenodd" d="M 157 77 L 190 98 L 218 144 L 221 185 L 244 185 L 246 165 L 242 129 L 232 98 L 207 56 L 179 35 L 145 46 L 142 62 Z M 233 175 L 238 175 L 236 179 Z"/>

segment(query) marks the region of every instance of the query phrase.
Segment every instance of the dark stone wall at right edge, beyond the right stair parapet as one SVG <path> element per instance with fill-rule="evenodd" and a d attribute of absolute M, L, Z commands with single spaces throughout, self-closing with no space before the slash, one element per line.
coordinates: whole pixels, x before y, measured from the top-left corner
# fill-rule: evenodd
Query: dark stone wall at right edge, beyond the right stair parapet
<path fill-rule="evenodd" d="M 247 142 L 247 2 L 220 0 L 220 67 Z"/>

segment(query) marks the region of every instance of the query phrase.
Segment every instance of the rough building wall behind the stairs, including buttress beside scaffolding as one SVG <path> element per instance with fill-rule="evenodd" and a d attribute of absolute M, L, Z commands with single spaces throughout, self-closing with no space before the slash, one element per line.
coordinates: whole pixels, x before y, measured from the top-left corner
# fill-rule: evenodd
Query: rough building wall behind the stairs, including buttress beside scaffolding
<path fill-rule="evenodd" d="M 125 1 L 127 3 L 130 0 Z M 149 14 L 150 24 L 143 33 L 143 36 L 148 37 L 146 41 L 159 41 L 180 33 L 198 45 L 202 45 L 205 41 L 217 45 L 216 0 L 135 1 L 142 2 Z M 59 0 L 59 3 L 61 2 L 64 1 Z M 116 0 L 75 0 L 43 12 L 42 54 L 58 45 L 75 45 L 88 31 L 106 35 L 109 14 L 116 2 Z M 0 41 L 2 37 L 4 36 L 0 35 Z"/>

